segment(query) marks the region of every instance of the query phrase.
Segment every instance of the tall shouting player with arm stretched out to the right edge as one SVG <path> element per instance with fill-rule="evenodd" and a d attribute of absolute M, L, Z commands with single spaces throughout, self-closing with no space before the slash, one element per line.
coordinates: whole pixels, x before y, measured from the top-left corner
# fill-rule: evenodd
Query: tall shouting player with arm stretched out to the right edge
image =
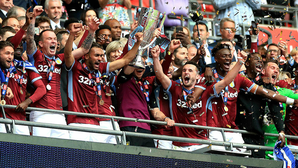
<path fill-rule="evenodd" d="M 216 62 L 216 67 L 212 70 L 216 80 L 212 82 L 213 85 L 218 81 L 224 79 L 224 77 L 229 72 L 229 66 L 231 64 L 232 55 L 230 51 L 230 46 L 228 44 L 216 45 L 212 49 L 211 53 L 212 56 L 215 57 Z M 238 57 L 241 59 L 240 56 Z M 203 81 L 203 83 L 205 83 L 205 81 Z M 203 97 L 203 100 L 207 100 L 207 126 L 210 127 L 238 129 L 238 127 L 235 124 L 235 106 L 240 88 L 242 88 L 246 92 L 262 95 L 265 98 L 269 98 L 277 102 L 285 102 L 287 104 L 294 104 L 295 106 L 297 106 L 298 104 L 297 100 L 294 101 L 294 99 L 286 98 L 281 95 L 276 95 L 275 92 L 267 91 L 263 87 L 254 84 L 244 75 L 240 74 L 238 74 L 236 78 L 224 90 L 214 90 L 214 87 L 212 85 L 208 86 L 204 92 L 207 95 L 207 97 Z M 190 103 L 198 99 L 196 92 L 200 93 L 202 92 L 202 90 L 204 90 L 204 87 L 195 88 L 195 95 L 193 96 L 194 99 L 191 100 Z M 220 92 L 221 94 L 218 94 Z M 240 133 L 225 132 L 225 137 L 226 140 L 229 142 L 244 143 Z M 215 141 L 224 140 L 221 132 L 214 130 L 209 130 L 209 139 Z M 224 147 L 218 147 L 218 149 L 225 150 Z"/>

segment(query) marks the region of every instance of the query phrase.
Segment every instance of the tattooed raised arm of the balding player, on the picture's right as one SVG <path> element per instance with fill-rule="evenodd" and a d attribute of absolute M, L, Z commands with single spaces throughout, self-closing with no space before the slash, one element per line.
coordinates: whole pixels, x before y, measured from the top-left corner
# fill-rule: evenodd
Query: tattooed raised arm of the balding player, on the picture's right
<path fill-rule="evenodd" d="M 92 19 L 88 18 L 88 20 L 89 20 L 88 25 L 89 25 L 90 30 L 89 30 L 87 37 L 83 41 L 83 44 L 80 48 L 72 51 L 72 55 L 75 57 L 75 59 L 81 58 L 83 55 L 85 55 L 86 53 L 89 52 L 89 49 L 93 42 L 95 30 L 98 29 L 98 26 L 100 23 L 99 19 L 97 19 L 97 17 L 93 17 Z"/>

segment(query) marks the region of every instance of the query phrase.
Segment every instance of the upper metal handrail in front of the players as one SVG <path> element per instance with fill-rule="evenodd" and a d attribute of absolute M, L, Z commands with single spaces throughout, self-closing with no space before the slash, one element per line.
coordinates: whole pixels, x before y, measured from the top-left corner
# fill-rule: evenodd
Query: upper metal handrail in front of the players
<path fill-rule="evenodd" d="M 4 108 L 13 108 L 14 109 L 16 106 L 6 104 L 6 105 L 3 105 L 3 107 Z M 118 116 L 111 116 L 111 115 L 90 114 L 90 113 L 83 113 L 83 112 L 52 110 L 52 109 L 35 108 L 35 107 L 27 107 L 26 110 L 41 111 L 41 112 L 52 112 L 52 113 L 67 114 L 67 115 L 78 115 L 78 116 L 84 116 L 84 117 L 107 118 L 107 119 L 115 119 L 115 120 L 122 120 L 122 121 L 143 122 L 143 123 L 148 123 L 148 124 L 167 125 L 167 122 L 164 122 L 164 121 L 145 120 L 145 119 L 139 119 L 139 118 L 118 117 Z M 237 132 L 237 133 L 243 133 L 243 134 L 258 135 L 255 132 L 249 132 L 249 131 L 246 131 L 246 130 L 236 130 L 236 129 L 230 129 L 230 128 L 208 127 L 208 126 L 201 126 L 201 125 L 181 124 L 181 123 L 175 123 L 174 126 L 204 129 L 204 130 L 215 130 L 215 131 L 224 130 L 226 132 Z M 279 134 L 272 134 L 272 133 L 266 133 L 266 132 L 264 133 L 264 135 L 265 136 L 273 136 L 273 137 L 278 137 L 279 136 Z M 286 138 L 298 139 L 298 136 L 286 135 Z"/>

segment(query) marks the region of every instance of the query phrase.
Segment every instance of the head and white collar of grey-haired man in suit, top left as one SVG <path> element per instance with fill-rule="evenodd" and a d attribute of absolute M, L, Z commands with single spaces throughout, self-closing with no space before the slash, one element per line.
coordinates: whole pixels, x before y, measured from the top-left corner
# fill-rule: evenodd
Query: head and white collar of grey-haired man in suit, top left
<path fill-rule="evenodd" d="M 46 0 L 44 2 L 44 11 L 48 15 L 51 22 L 51 29 L 62 28 L 64 23 L 60 21 L 62 16 L 61 0 Z"/>

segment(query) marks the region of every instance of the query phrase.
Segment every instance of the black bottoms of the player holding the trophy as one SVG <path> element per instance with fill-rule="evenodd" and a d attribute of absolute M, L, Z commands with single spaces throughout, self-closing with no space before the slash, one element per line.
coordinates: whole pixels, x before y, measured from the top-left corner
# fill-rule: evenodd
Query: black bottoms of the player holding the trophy
<path fill-rule="evenodd" d="M 121 127 L 120 130 L 128 131 L 128 132 L 139 132 L 139 133 L 151 134 L 150 130 L 145 130 L 143 128 L 135 127 L 135 126 Z M 139 138 L 139 137 L 126 136 L 126 144 L 128 144 L 128 143 L 131 146 L 155 148 L 155 144 L 154 144 L 154 141 L 152 138 Z"/>

